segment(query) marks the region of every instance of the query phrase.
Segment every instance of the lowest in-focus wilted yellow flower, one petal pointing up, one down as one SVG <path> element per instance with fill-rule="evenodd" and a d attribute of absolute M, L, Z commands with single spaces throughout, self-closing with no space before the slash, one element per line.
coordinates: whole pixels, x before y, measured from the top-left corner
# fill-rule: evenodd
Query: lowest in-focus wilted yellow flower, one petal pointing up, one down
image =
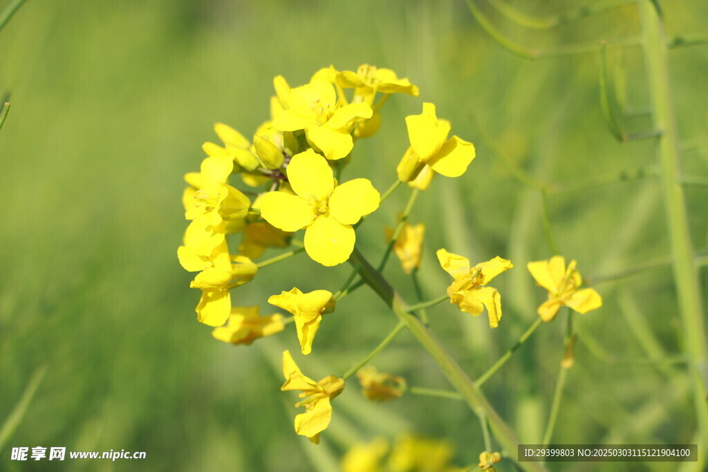
<path fill-rule="evenodd" d="M 304 376 L 292 359 L 290 351 L 282 352 L 282 374 L 285 376 L 285 384 L 280 390 L 300 390 L 302 393 L 299 397 L 304 398 L 295 404 L 296 407 L 305 407 L 305 413 L 295 417 L 295 432 L 318 444 L 319 433 L 326 430 L 332 419 L 331 400 L 344 389 L 344 379 L 330 375 L 316 382 Z"/>

